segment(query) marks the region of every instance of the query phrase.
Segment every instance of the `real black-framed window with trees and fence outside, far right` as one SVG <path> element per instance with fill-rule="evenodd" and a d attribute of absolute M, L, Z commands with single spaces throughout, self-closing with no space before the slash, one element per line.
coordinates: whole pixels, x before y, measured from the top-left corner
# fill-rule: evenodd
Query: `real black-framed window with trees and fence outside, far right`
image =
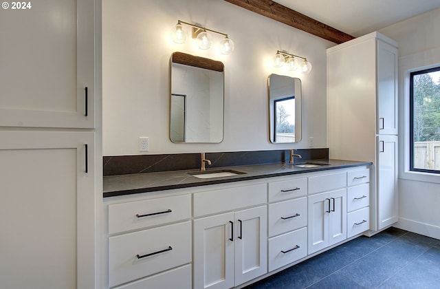
<path fill-rule="evenodd" d="M 440 67 L 410 73 L 410 171 L 440 173 Z"/>

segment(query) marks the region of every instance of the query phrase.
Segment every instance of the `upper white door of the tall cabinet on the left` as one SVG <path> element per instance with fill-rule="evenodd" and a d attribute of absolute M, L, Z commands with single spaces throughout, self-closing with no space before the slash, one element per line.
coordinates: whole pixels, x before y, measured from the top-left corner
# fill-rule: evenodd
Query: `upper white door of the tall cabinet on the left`
<path fill-rule="evenodd" d="M 1 13 L 0 126 L 94 127 L 94 2 Z"/>

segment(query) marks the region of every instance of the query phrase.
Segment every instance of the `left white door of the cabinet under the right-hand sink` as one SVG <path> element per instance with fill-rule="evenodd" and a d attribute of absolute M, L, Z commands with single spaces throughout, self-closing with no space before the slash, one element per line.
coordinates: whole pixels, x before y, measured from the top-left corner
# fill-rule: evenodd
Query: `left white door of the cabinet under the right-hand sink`
<path fill-rule="evenodd" d="M 329 193 L 309 195 L 309 254 L 329 246 Z"/>

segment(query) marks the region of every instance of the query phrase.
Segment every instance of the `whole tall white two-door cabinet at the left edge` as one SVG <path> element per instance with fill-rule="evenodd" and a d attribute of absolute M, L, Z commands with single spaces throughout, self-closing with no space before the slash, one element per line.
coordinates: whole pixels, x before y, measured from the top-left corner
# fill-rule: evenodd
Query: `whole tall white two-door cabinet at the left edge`
<path fill-rule="evenodd" d="M 100 287 L 100 6 L 0 11 L 1 288 Z"/>

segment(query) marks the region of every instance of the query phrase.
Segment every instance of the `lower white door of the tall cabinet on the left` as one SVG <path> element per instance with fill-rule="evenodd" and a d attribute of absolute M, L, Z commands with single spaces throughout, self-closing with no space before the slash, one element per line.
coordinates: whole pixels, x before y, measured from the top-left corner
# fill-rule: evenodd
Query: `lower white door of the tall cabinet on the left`
<path fill-rule="evenodd" d="M 91 132 L 0 131 L 2 288 L 95 287 L 94 159 Z"/>

